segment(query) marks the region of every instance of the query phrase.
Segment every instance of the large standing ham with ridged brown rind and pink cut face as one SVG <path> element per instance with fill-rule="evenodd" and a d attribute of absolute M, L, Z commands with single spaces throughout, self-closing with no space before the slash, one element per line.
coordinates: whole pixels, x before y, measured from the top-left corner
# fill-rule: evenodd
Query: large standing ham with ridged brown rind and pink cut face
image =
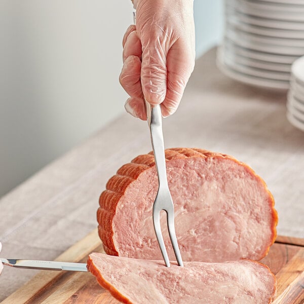
<path fill-rule="evenodd" d="M 165 152 L 183 261 L 264 257 L 276 238 L 278 221 L 265 182 L 231 156 L 191 148 Z M 157 189 L 152 153 L 138 156 L 109 179 L 97 212 L 106 253 L 162 259 L 151 217 Z M 165 215 L 161 215 L 165 244 L 174 260 Z"/>

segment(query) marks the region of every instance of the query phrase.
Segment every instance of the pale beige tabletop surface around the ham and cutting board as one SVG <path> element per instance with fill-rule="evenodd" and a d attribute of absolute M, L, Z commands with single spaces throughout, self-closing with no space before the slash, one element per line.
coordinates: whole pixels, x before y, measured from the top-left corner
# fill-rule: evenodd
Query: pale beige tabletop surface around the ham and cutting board
<path fill-rule="evenodd" d="M 304 237 L 304 133 L 286 119 L 285 93 L 226 78 L 213 49 L 197 60 L 181 105 L 163 125 L 166 147 L 206 148 L 249 164 L 275 197 L 278 233 Z M 55 259 L 96 228 L 108 178 L 150 150 L 146 122 L 126 114 L 29 178 L 0 200 L 1 256 Z M 5 268 L 0 300 L 35 274 Z"/>

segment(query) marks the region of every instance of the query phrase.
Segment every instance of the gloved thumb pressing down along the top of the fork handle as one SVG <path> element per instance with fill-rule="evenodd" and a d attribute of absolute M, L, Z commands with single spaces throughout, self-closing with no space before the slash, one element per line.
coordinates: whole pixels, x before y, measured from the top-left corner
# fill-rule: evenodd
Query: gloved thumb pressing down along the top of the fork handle
<path fill-rule="evenodd" d="M 167 35 L 159 28 L 146 30 L 141 37 L 141 86 L 146 100 L 156 105 L 164 101 L 167 90 Z"/>

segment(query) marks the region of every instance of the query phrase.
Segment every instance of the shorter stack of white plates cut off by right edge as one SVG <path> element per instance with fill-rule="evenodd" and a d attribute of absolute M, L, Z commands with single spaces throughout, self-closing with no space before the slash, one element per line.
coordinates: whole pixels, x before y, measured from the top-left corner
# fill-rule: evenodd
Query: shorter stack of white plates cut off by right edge
<path fill-rule="evenodd" d="M 292 125 L 304 131 L 304 56 L 295 60 L 291 66 L 287 118 Z"/>

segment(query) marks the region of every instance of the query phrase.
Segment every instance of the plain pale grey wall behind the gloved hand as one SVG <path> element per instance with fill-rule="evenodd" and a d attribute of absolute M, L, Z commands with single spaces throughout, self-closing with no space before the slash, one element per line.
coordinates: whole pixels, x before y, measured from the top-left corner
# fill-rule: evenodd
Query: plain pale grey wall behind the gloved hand
<path fill-rule="evenodd" d="M 0 0 L 0 196 L 124 112 L 128 0 Z M 222 1 L 195 0 L 197 57 Z M 203 80 L 202 80 L 203 81 Z"/>

